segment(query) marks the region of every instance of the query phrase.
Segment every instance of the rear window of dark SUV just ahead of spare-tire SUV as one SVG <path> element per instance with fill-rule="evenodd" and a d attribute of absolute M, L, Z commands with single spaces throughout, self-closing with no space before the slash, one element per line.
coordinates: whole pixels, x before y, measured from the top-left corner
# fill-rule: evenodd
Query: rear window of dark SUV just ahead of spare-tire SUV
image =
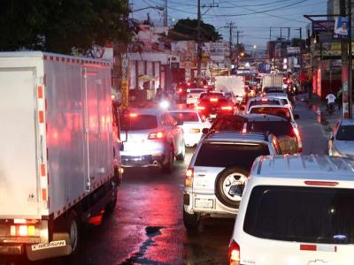
<path fill-rule="evenodd" d="M 253 121 L 247 123 L 247 132 L 272 133 L 275 136 L 288 135 L 296 137 L 290 122 L 281 121 Z"/>

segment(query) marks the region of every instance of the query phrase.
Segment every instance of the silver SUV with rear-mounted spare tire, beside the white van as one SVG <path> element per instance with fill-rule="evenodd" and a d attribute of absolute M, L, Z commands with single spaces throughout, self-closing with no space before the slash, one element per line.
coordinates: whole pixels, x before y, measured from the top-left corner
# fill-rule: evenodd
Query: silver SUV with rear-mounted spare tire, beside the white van
<path fill-rule="evenodd" d="M 250 168 L 259 155 L 281 154 L 265 133 L 210 133 L 201 140 L 186 171 L 183 221 L 197 231 L 202 216 L 235 217 Z"/>

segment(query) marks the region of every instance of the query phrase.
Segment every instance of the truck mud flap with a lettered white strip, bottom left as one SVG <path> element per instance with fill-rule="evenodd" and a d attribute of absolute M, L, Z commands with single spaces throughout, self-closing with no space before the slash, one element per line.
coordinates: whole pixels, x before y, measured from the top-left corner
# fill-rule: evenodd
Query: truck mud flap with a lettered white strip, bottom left
<path fill-rule="evenodd" d="M 53 235 L 54 241 L 50 243 L 27 245 L 27 258 L 30 261 L 39 261 L 54 257 L 67 256 L 72 253 L 69 234 L 61 233 L 59 237 Z M 57 239 L 56 239 L 57 238 Z"/>

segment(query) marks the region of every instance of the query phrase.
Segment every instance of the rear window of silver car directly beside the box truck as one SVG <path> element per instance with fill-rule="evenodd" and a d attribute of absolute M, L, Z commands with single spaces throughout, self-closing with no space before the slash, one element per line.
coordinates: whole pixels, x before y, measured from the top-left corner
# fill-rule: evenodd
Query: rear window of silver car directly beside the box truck
<path fill-rule="evenodd" d="M 150 130 L 158 127 L 156 115 L 130 113 L 120 116 L 120 125 L 123 131 Z"/>

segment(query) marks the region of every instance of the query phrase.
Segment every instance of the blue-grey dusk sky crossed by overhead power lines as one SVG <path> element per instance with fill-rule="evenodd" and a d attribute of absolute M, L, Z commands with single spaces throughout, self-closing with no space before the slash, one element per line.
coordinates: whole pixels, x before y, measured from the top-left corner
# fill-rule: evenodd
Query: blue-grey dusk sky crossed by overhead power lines
<path fill-rule="evenodd" d="M 130 0 L 133 11 L 148 6 L 162 6 L 163 0 Z M 290 38 L 298 37 L 299 27 L 303 27 L 303 38 L 306 36 L 305 27 L 309 20 L 304 19 L 304 14 L 326 14 L 327 0 L 201 0 L 203 4 L 219 4 L 207 11 L 202 9 L 204 22 L 212 24 L 223 35 L 225 41 L 229 39 L 227 23 L 234 22 L 234 40 L 236 31 L 240 33 L 240 42 L 250 45 L 258 45 L 258 49 L 265 49 L 269 41 L 269 27 L 291 27 Z M 196 19 L 196 0 L 168 0 L 169 24 L 178 19 Z M 146 19 L 147 13 L 155 22 L 162 22 L 163 11 L 147 9 L 133 12 L 135 19 Z M 323 18 L 326 19 L 326 18 Z M 283 36 L 288 36 L 288 29 L 283 29 Z M 272 39 L 281 36 L 280 28 L 272 29 Z"/>

